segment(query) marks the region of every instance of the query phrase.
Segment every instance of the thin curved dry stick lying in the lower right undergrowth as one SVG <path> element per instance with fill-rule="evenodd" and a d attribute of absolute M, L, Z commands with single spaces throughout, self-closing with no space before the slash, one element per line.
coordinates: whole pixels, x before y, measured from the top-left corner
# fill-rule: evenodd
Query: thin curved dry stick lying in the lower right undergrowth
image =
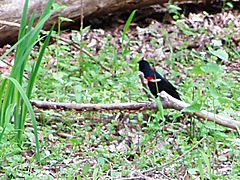
<path fill-rule="evenodd" d="M 183 157 L 185 157 L 187 154 L 189 154 L 191 151 L 193 151 L 197 146 L 199 146 L 199 144 L 201 144 L 203 142 L 203 140 L 205 139 L 206 137 L 203 137 L 200 141 L 198 141 L 193 147 L 191 147 L 191 149 L 189 149 L 188 151 L 186 151 L 185 153 L 183 153 L 182 155 L 176 157 L 175 159 L 161 165 L 161 166 L 158 166 L 158 167 L 154 167 L 154 168 L 151 168 L 151 169 L 148 169 L 146 171 L 143 171 L 142 173 L 143 174 L 146 174 L 150 171 L 154 171 L 154 170 L 157 170 L 157 169 L 162 169 L 170 164 L 173 164 L 173 163 L 176 163 L 177 161 L 179 161 L 180 159 L 182 159 Z"/>

